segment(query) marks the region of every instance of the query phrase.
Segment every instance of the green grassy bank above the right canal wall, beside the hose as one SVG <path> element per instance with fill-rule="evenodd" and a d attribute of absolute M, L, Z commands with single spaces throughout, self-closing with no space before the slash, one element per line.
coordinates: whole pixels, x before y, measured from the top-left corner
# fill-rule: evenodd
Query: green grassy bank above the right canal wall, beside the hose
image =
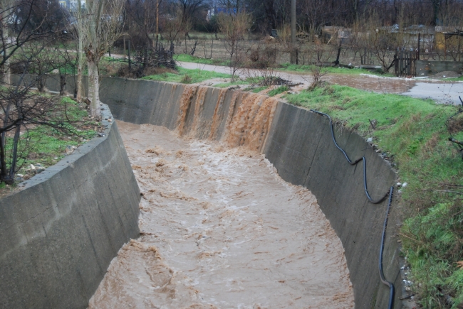
<path fill-rule="evenodd" d="M 444 298 L 463 301 L 462 156 L 447 141 L 445 121 L 457 107 L 396 94 L 377 94 L 338 85 L 311 92 L 286 94 L 292 104 L 330 114 L 333 119 L 373 137 L 381 152 L 387 152 L 398 169 L 402 189 L 404 254 L 412 266 L 412 281 L 420 302 L 427 308 L 446 308 Z M 378 124 L 373 130 L 369 119 Z M 462 114 L 453 136 L 463 139 Z M 459 131 L 459 132 L 457 132 Z M 449 186 L 449 184 L 451 184 Z M 450 188 L 450 189 L 449 189 Z"/>

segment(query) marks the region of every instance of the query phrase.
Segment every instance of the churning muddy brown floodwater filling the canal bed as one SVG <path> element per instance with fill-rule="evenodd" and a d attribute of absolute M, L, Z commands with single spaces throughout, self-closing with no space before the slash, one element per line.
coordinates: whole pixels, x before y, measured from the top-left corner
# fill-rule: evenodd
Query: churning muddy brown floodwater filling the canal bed
<path fill-rule="evenodd" d="M 259 153 L 118 121 L 144 196 L 89 308 L 353 308 L 316 198 Z"/>

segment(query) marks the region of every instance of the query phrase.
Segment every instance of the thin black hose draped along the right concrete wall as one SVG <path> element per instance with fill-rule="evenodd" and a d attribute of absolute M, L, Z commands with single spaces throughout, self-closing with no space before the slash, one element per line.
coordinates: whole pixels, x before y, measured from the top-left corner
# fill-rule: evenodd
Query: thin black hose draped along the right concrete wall
<path fill-rule="evenodd" d="M 384 273 L 383 273 L 383 250 L 384 250 L 384 241 L 385 241 L 385 237 L 386 237 L 387 218 L 389 217 L 390 204 L 392 203 L 392 192 L 394 190 L 394 187 L 391 186 L 389 192 L 386 193 L 383 197 L 380 197 L 378 200 L 373 200 L 373 198 L 370 196 L 370 193 L 368 193 L 367 161 L 365 159 L 365 156 L 363 156 L 362 158 L 359 158 L 359 159 L 357 159 L 355 161 L 351 161 L 349 156 L 347 155 L 347 153 L 345 153 L 345 151 L 343 150 L 343 148 L 340 148 L 338 143 L 336 143 L 336 139 L 334 137 L 333 121 L 331 120 L 331 117 L 328 116 L 327 114 L 324 114 L 322 112 L 318 112 L 318 111 L 313 110 L 313 109 L 311 109 L 311 112 L 319 114 L 321 116 L 326 116 L 330 120 L 331 137 L 333 138 L 333 142 L 334 142 L 336 148 L 338 148 L 343 153 L 343 155 L 345 156 L 345 159 L 348 161 L 348 163 L 351 166 L 355 166 L 360 161 L 363 161 L 363 188 L 365 190 L 365 195 L 367 195 L 368 200 L 370 200 L 370 202 L 372 202 L 373 204 L 378 204 L 378 203 L 382 202 L 387 197 L 387 195 L 389 195 L 389 202 L 387 204 L 387 212 L 386 212 L 386 217 L 385 217 L 384 225 L 383 225 L 383 234 L 382 234 L 382 237 L 381 237 L 379 271 L 380 271 L 381 282 L 389 287 L 389 305 L 387 306 L 387 308 L 392 309 L 392 307 L 394 305 L 394 284 L 387 281 L 385 279 L 385 277 L 384 277 Z"/>

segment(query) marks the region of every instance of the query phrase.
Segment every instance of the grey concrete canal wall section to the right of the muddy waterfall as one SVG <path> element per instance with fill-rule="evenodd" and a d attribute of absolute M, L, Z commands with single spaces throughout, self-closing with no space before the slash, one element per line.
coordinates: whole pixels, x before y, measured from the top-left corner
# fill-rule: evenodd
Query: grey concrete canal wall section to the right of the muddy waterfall
<path fill-rule="evenodd" d="M 368 190 L 382 197 L 394 183 L 395 173 L 363 138 L 343 130 L 336 140 L 350 159 L 365 156 Z M 363 190 L 363 166 L 350 166 L 333 143 L 328 119 L 290 104 L 280 104 L 265 147 L 266 157 L 284 180 L 303 185 L 317 197 L 345 249 L 355 294 L 355 308 L 384 308 L 388 288 L 380 284 L 378 258 L 387 200 L 373 205 Z M 394 204 L 392 205 L 394 207 Z M 385 277 L 400 291 L 398 246 L 394 235 L 397 212 L 392 209 L 387 229 Z M 400 308 L 396 293 L 395 308 Z"/>

